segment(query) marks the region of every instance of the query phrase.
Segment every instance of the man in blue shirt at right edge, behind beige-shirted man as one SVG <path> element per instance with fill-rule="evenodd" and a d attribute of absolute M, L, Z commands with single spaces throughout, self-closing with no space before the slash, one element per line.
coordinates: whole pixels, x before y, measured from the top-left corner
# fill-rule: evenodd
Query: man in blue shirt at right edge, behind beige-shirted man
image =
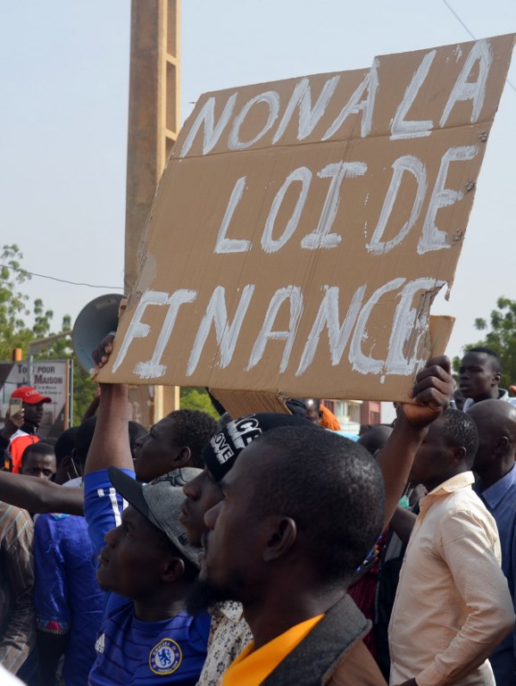
<path fill-rule="evenodd" d="M 502 570 L 516 611 L 516 407 L 483 400 L 470 407 L 479 430 L 479 450 L 473 470 L 479 481 L 473 489 L 495 518 Z M 497 684 L 516 683 L 516 631 L 509 634 L 489 656 Z"/>

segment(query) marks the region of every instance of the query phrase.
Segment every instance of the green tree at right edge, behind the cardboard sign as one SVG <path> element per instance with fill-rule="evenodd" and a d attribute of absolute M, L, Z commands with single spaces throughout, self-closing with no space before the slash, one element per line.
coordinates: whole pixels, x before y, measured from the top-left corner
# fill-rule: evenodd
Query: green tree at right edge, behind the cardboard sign
<path fill-rule="evenodd" d="M 502 359 L 502 380 L 500 386 L 507 389 L 516 382 L 516 300 L 508 297 L 499 297 L 496 308 L 491 312 L 489 322 L 478 318 L 475 320 L 475 328 L 479 331 L 487 331 L 483 339 L 477 343 L 462 348 L 467 352 L 471 347 L 490 347 L 495 350 Z M 454 358 L 454 372 L 459 371 L 461 359 Z"/>

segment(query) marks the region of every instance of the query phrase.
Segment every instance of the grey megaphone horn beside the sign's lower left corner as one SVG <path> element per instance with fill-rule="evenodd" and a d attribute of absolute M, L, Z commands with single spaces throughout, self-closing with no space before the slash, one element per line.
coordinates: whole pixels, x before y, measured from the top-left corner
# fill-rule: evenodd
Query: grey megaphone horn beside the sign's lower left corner
<path fill-rule="evenodd" d="M 93 367 L 92 352 L 108 333 L 116 331 L 119 309 L 124 298 L 120 293 L 96 297 L 79 312 L 71 339 L 79 364 L 87 372 Z"/>

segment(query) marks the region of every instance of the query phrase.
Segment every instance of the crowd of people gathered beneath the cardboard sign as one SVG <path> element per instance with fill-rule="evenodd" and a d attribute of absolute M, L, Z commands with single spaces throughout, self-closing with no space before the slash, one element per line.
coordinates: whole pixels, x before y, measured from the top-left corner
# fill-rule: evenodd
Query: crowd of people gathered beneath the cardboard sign
<path fill-rule="evenodd" d="M 516 398 L 500 378 L 488 348 L 457 390 L 430 360 L 395 422 L 353 438 L 314 398 L 219 422 L 182 409 L 147 432 L 127 387 L 101 384 L 54 445 L 38 436 L 49 398 L 16 389 L 0 682 L 516 684 Z"/>

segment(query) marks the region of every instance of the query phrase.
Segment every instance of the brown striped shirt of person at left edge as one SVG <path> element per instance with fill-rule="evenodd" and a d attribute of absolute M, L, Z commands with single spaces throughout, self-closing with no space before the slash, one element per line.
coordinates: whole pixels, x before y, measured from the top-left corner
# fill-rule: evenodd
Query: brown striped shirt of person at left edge
<path fill-rule="evenodd" d="M 29 513 L 0 501 L 0 664 L 12 673 L 36 640 L 33 538 Z"/>

